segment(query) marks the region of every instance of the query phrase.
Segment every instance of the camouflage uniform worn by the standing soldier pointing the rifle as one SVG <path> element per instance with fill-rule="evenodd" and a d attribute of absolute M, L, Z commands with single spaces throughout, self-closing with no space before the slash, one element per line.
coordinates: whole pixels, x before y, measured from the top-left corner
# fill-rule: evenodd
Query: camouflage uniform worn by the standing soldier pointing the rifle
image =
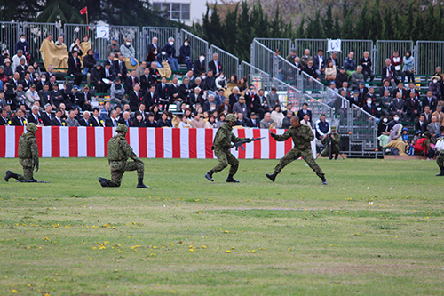
<path fill-rule="evenodd" d="M 230 152 L 230 149 L 234 147 L 231 143 L 247 140 L 248 138 L 238 138 L 232 131 L 233 127 L 230 124 L 225 123 L 222 124 L 222 126 L 219 127 L 218 132 L 216 132 L 212 149 L 214 150 L 216 157 L 218 157 L 219 163 L 211 170 L 213 172 L 221 172 L 226 166 L 228 166 L 228 164 L 231 165 L 230 175 L 234 175 L 237 172 L 239 161 Z"/>

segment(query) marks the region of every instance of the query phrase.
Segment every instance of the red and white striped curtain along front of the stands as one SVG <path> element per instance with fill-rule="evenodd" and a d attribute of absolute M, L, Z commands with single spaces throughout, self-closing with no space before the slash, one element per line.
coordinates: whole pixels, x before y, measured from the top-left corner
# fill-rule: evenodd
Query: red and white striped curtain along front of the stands
<path fill-rule="evenodd" d="M 126 135 L 141 158 L 214 158 L 211 150 L 217 130 L 131 127 Z M 24 126 L 0 126 L 0 157 L 18 157 Z M 291 139 L 277 142 L 268 130 L 234 129 L 241 138 L 259 138 L 244 144 L 245 151 L 232 149 L 240 159 L 279 159 L 291 148 Z M 272 130 L 282 134 L 284 130 Z M 115 135 L 112 127 L 44 126 L 36 132 L 40 157 L 107 157 L 107 142 Z M 313 156 L 315 144 L 312 142 Z"/>

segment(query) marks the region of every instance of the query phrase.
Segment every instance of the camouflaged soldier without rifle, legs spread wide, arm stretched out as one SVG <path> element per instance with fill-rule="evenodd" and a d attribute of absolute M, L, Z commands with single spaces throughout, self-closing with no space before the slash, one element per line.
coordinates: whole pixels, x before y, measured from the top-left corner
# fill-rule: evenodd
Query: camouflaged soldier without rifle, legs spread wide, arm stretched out
<path fill-rule="evenodd" d="M 293 139 L 295 143 L 295 147 L 289 150 L 289 152 L 281 158 L 279 164 L 274 168 L 274 173 L 272 175 L 266 174 L 266 177 L 272 181 L 276 179 L 276 176 L 281 170 L 293 160 L 296 160 L 300 156 L 302 156 L 305 162 L 312 168 L 314 172 L 318 175 L 322 180 L 322 184 L 327 185 L 327 180 L 325 180 L 324 173 L 321 168 L 316 164 L 313 158 L 312 145 L 311 141 L 314 139 L 314 135 L 312 129 L 308 125 L 299 124 L 299 117 L 293 116 L 290 119 L 291 127 L 287 132 L 282 135 L 277 135 L 274 132 L 271 133 L 271 136 L 274 140 L 284 141 L 289 138 Z"/>

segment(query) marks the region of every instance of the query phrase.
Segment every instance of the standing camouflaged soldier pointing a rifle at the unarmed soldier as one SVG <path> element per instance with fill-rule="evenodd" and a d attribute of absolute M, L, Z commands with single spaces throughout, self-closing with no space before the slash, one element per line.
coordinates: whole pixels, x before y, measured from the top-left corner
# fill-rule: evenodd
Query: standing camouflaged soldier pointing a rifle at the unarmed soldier
<path fill-rule="evenodd" d="M 228 174 L 228 178 L 226 178 L 227 182 L 239 182 L 238 180 L 234 180 L 233 176 L 237 172 L 237 168 L 239 166 L 239 161 L 231 154 L 230 149 L 234 146 L 231 144 L 232 142 L 240 142 L 242 140 L 249 140 L 248 138 L 238 138 L 234 135 L 233 125 L 236 121 L 236 117 L 233 114 L 228 114 L 225 118 L 226 123 L 222 124 L 219 127 L 218 132 L 216 132 L 216 136 L 214 137 L 213 147 L 214 154 L 218 157 L 218 165 L 207 172 L 205 174 L 205 178 L 210 181 L 214 181 L 213 173 L 221 172 L 228 166 L 231 165 L 230 172 Z"/>

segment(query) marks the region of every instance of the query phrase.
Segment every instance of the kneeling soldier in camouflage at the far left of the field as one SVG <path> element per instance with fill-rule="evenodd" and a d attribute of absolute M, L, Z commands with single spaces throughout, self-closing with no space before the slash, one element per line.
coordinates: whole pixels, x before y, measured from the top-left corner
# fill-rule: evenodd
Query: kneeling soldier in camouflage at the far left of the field
<path fill-rule="evenodd" d="M 37 181 L 33 177 L 34 168 L 36 168 L 36 172 L 38 171 L 37 125 L 33 123 L 27 124 L 27 131 L 19 139 L 19 158 L 20 164 L 23 166 L 23 176 L 8 170 L 6 171 L 6 176 L 4 176 L 6 182 L 11 178 L 28 182 Z"/>

